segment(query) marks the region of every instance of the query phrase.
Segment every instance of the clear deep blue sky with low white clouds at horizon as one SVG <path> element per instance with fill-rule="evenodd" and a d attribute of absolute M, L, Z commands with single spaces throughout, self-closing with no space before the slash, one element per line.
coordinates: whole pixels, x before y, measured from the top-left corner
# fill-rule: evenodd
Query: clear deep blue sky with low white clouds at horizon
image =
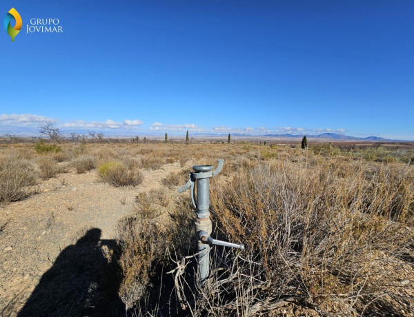
<path fill-rule="evenodd" d="M 414 139 L 413 1 L 1 1 L 0 134 Z M 63 33 L 29 33 L 57 18 Z"/>

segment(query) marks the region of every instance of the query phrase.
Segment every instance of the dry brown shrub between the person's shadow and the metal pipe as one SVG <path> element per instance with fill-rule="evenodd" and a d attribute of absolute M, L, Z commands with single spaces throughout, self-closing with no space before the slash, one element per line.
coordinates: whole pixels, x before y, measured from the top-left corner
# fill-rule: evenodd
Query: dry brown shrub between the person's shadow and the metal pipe
<path fill-rule="evenodd" d="M 174 316 L 177 298 L 166 272 L 172 268 L 170 253 L 195 251 L 194 214 L 188 199 L 179 199 L 170 213 L 170 222 L 161 227 L 157 221 L 159 209 L 152 204 L 152 195 L 140 194 L 134 213 L 119 221 L 119 264 L 124 274 L 119 294 L 133 315 Z"/>

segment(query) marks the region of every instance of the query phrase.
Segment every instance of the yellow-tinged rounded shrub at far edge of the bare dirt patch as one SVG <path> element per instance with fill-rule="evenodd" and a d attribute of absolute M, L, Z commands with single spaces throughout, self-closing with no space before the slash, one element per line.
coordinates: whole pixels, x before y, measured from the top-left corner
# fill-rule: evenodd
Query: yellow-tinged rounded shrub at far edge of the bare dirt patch
<path fill-rule="evenodd" d="M 109 161 L 99 165 L 98 175 L 102 181 L 113 186 L 136 186 L 144 176 L 137 168 L 128 168 L 123 162 Z"/>

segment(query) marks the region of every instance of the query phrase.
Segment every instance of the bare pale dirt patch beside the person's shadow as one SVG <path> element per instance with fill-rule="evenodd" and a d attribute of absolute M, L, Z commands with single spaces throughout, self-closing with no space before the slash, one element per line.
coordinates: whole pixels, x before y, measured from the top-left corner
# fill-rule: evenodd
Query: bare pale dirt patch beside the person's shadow
<path fill-rule="evenodd" d="M 87 236 L 88 229 L 100 230 L 95 230 L 100 233 L 97 240 L 114 242 L 117 221 L 132 212 L 139 192 L 162 188 L 171 198 L 177 196 L 161 180 L 178 170 L 179 163 L 166 164 L 159 170 L 143 170 L 144 181 L 137 187 L 112 187 L 99 180 L 96 170 L 85 174 L 71 170 L 41 182 L 39 194 L 3 207 L 0 316 L 17 316 L 59 254 Z"/>

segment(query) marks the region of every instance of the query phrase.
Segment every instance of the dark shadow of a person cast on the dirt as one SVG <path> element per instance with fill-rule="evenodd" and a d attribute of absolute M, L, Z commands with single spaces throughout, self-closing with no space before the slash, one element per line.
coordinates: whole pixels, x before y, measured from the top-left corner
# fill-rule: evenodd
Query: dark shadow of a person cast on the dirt
<path fill-rule="evenodd" d="M 103 245 L 112 258 L 103 255 Z M 76 245 L 63 249 L 18 316 L 125 316 L 116 245 L 101 240 L 101 229 L 88 230 Z"/>

